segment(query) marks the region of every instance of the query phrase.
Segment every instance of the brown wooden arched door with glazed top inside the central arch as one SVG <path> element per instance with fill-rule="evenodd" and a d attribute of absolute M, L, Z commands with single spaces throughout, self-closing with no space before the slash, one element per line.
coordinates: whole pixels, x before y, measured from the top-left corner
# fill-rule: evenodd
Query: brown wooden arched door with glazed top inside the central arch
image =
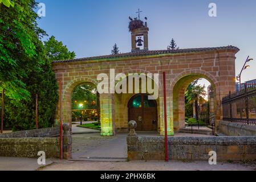
<path fill-rule="evenodd" d="M 128 121 L 137 122 L 137 131 L 157 131 L 157 102 L 148 94 L 137 94 L 128 102 Z"/>

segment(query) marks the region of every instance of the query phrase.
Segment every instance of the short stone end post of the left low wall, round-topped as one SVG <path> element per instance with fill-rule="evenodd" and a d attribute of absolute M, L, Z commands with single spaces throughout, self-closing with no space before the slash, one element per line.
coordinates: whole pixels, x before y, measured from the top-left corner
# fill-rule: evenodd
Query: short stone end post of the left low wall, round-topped
<path fill-rule="evenodd" d="M 72 137 L 68 123 L 63 124 L 63 156 L 64 159 L 72 158 Z"/>

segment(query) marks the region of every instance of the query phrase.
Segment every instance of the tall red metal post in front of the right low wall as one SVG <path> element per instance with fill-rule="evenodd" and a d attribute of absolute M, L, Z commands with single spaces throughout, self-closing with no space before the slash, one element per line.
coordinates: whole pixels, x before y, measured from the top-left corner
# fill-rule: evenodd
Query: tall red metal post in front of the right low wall
<path fill-rule="evenodd" d="M 168 162 L 168 137 L 167 137 L 167 109 L 166 109 L 166 76 L 164 72 L 164 137 L 165 137 L 165 162 Z"/>

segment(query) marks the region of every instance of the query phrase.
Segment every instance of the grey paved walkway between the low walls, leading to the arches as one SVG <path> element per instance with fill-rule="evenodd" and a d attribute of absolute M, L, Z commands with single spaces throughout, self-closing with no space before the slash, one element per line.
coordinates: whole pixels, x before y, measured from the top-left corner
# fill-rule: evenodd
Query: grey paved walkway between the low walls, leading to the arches
<path fill-rule="evenodd" d="M 128 133 L 118 133 L 113 137 L 101 137 L 99 130 L 72 126 L 72 159 L 89 161 L 125 161 L 127 160 Z M 138 136 L 155 137 L 155 132 L 139 132 Z M 200 134 L 176 134 L 176 137 L 210 137 Z"/>

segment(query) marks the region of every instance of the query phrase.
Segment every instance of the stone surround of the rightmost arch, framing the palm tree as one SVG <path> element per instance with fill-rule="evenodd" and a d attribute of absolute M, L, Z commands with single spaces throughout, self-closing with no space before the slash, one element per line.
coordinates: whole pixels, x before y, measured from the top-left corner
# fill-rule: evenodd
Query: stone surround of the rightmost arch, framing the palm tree
<path fill-rule="evenodd" d="M 214 97 L 214 115 L 218 113 L 218 97 L 219 84 L 215 77 L 204 71 L 189 71 L 178 75 L 171 84 L 172 90 L 172 113 L 173 113 L 173 127 L 174 131 L 178 132 L 185 127 L 185 90 L 188 85 L 199 78 L 205 78 L 212 85 Z"/>

